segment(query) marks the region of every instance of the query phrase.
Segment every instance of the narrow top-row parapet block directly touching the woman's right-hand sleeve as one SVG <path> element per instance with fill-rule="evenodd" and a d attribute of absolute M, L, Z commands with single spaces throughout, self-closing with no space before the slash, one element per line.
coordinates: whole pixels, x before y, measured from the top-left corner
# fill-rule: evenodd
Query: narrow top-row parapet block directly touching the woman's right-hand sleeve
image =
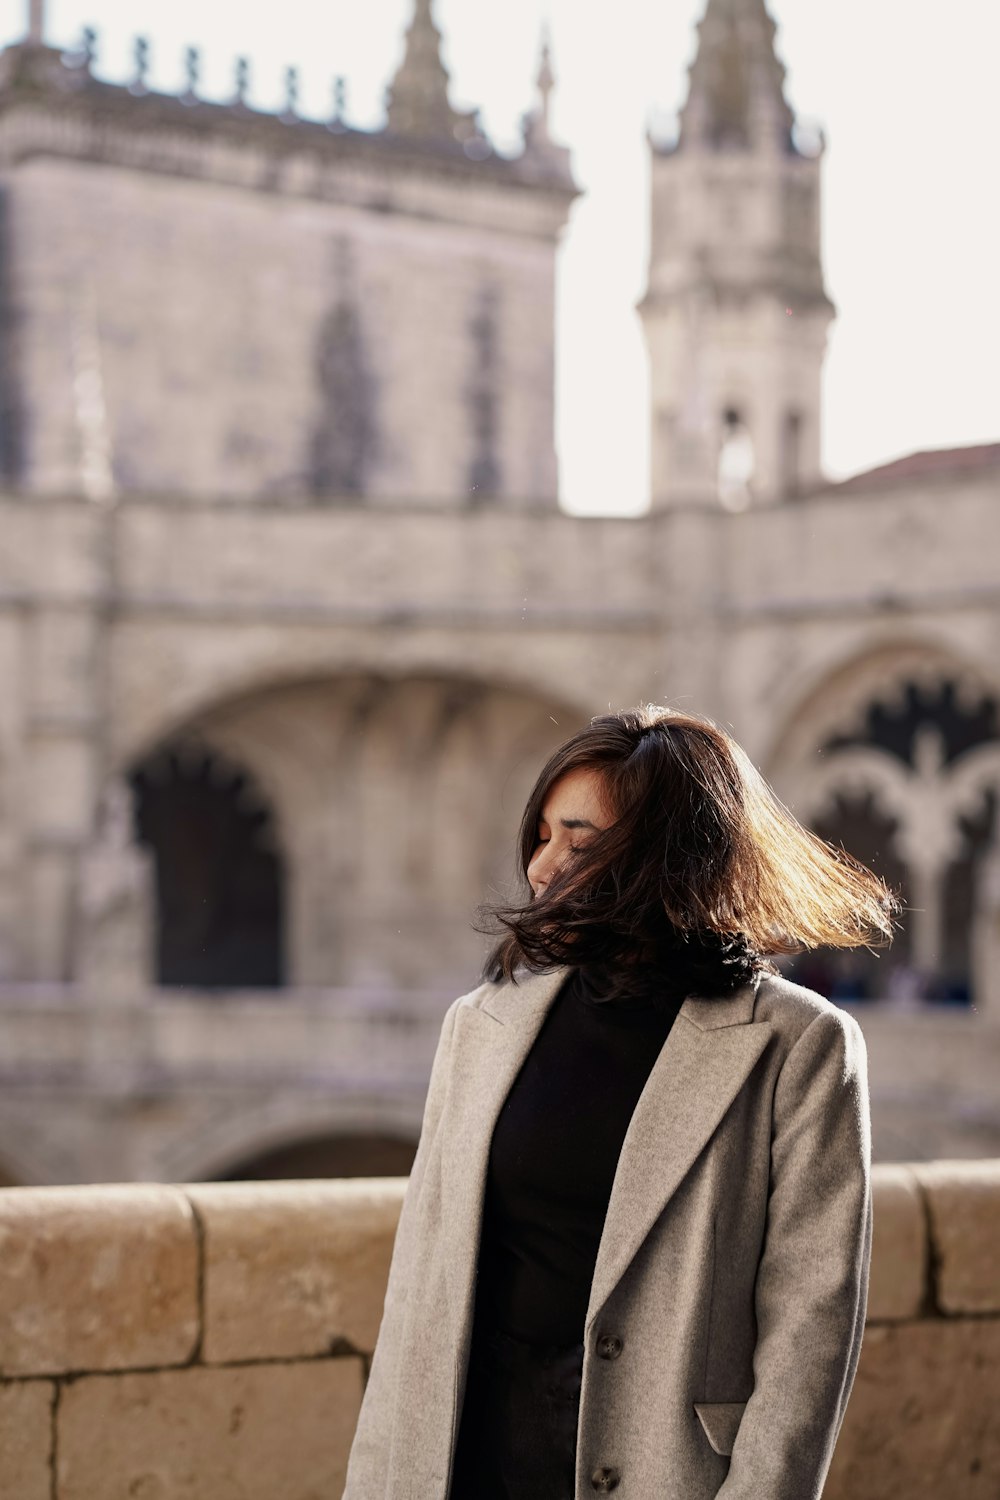
<path fill-rule="evenodd" d="M 873 1172 L 874 1233 L 868 1320 L 916 1317 L 927 1296 L 927 1218 L 909 1167 Z"/>

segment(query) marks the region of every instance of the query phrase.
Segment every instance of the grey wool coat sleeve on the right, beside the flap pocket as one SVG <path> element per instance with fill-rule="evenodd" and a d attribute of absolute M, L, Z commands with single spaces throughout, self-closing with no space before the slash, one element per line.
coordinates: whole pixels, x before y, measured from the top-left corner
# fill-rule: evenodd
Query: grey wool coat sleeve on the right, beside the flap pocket
<path fill-rule="evenodd" d="M 718 1500 L 819 1500 L 858 1368 L 871 1262 L 865 1041 L 822 1011 L 774 1095 L 754 1389 Z"/>

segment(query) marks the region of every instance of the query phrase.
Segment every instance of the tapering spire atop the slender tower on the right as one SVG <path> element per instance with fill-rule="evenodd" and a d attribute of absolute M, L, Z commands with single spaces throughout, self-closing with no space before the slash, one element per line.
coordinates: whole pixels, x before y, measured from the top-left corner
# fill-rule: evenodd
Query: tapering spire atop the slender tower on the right
<path fill-rule="evenodd" d="M 765 0 L 708 0 L 681 110 L 681 146 L 792 150 L 795 116 Z"/>

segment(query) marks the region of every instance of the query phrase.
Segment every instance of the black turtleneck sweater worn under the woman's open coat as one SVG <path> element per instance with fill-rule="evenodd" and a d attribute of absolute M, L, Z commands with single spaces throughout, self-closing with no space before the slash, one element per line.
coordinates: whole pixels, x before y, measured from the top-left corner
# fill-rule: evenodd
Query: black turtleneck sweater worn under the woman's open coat
<path fill-rule="evenodd" d="M 583 1338 L 618 1158 L 684 999 L 663 972 L 607 994 L 574 970 L 496 1120 L 480 1242 L 475 1334 Z"/>

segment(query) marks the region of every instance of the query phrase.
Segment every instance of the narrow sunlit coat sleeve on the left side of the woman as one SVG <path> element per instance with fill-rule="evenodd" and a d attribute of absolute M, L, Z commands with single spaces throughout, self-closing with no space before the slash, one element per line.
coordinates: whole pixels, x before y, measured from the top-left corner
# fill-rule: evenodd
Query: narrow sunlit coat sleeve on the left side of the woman
<path fill-rule="evenodd" d="M 430 1070 L 420 1142 L 396 1228 L 385 1302 L 382 1305 L 382 1322 L 375 1353 L 372 1354 L 372 1366 L 348 1461 L 343 1500 L 381 1500 L 388 1484 L 399 1354 L 406 1312 L 406 1294 L 409 1292 L 412 1246 L 418 1236 L 420 1197 L 427 1158 L 438 1131 L 447 1094 L 451 1035 L 454 1032 L 456 1011 L 460 1004 L 462 1000 L 454 1000 L 444 1018 Z"/>

